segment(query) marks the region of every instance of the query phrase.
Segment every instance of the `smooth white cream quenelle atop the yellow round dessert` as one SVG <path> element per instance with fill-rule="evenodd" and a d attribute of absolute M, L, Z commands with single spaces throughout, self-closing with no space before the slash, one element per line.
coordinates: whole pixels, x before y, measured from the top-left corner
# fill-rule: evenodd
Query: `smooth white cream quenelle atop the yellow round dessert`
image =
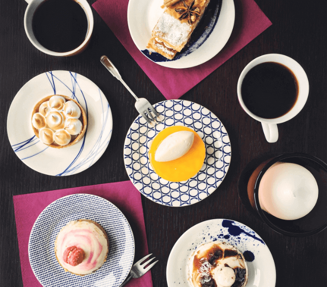
<path fill-rule="evenodd" d="M 166 137 L 158 146 L 155 160 L 167 162 L 175 160 L 186 154 L 194 141 L 194 133 L 189 131 L 175 132 Z"/>

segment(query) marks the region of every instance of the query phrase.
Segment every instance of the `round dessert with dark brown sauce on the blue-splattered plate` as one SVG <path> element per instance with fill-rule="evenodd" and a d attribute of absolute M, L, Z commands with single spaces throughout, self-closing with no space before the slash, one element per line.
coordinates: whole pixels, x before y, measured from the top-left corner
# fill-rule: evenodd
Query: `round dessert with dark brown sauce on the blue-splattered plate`
<path fill-rule="evenodd" d="M 248 267 L 236 247 L 214 241 L 193 252 L 188 261 L 188 279 L 192 287 L 244 287 Z"/>

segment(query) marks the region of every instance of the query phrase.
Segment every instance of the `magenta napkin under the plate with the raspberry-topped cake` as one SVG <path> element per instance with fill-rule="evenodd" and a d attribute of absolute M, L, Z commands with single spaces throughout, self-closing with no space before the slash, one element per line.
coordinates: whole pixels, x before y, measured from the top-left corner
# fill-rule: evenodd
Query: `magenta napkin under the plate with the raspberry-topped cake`
<path fill-rule="evenodd" d="M 116 205 L 126 216 L 134 233 L 135 259 L 148 254 L 141 194 L 131 181 L 17 195 L 13 200 L 24 287 L 42 287 L 34 276 L 28 255 L 30 233 L 36 218 L 51 202 L 75 193 L 97 195 Z M 126 286 L 152 287 L 151 272 L 147 272 L 139 279 L 132 279 Z"/>

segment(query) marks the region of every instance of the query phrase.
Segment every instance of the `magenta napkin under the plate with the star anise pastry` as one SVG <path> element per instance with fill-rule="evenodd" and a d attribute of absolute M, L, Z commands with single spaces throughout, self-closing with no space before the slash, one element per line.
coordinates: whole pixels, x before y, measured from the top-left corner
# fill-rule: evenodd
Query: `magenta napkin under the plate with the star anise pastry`
<path fill-rule="evenodd" d="M 136 48 L 127 24 L 128 3 L 98 0 L 92 6 L 167 100 L 181 97 L 271 25 L 254 0 L 235 0 L 234 29 L 224 49 L 199 66 L 172 69 L 152 62 Z"/>

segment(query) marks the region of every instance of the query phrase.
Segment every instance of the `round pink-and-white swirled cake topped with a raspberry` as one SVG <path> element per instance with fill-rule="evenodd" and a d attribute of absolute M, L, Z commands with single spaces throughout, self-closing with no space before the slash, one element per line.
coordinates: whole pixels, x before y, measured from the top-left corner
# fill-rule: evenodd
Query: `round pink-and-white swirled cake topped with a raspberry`
<path fill-rule="evenodd" d="M 105 230 L 88 219 L 70 221 L 59 231 L 55 254 L 59 264 L 75 275 L 84 276 L 97 271 L 109 252 Z"/>

